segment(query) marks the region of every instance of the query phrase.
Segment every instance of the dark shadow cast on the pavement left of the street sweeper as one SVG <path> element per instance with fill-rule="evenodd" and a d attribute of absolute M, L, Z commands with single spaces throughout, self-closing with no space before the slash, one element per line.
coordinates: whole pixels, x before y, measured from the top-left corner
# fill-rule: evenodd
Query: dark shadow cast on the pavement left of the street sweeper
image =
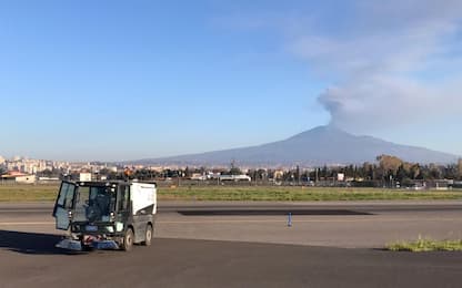
<path fill-rule="evenodd" d="M 70 251 L 56 248 L 59 235 L 0 230 L 0 249 L 30 255 L 66 255 Z"/>

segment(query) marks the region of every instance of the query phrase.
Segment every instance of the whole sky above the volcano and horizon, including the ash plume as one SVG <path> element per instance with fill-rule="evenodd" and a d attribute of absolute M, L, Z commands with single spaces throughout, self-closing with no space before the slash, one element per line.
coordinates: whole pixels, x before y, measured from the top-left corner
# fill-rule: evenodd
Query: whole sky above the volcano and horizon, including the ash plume
<path fill-rule="evenodd" d="M 462 155 L 460 1 L 317 2 L 1 1 L 0 155 L 137 160 L 329 123 Z"/>

